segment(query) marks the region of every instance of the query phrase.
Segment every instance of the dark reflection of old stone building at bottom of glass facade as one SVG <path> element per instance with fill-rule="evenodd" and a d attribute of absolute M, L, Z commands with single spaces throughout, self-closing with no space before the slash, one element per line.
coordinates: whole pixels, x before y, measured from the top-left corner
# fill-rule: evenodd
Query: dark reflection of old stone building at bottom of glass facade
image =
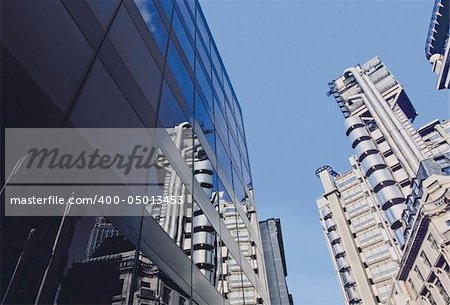
<path fill-rule="evenodd" d="M 135 264 L 137 262 L 137 264 Z M 119 266 L 119 268 L 118 268 Z M 138 277 L 133 279 L 137 268 Z M 136 281 L 133 297 L 129 290 Z M 58 292 L 62 304 L 188 304 L 189 295 L 124 236 L 108 237 L 86 259 L 75 260 Z"/>

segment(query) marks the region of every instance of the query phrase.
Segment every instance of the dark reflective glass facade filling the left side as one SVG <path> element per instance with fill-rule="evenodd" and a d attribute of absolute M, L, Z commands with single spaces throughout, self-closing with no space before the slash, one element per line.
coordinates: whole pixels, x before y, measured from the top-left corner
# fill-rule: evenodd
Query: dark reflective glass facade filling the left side
<path fill-rule="evenodd" d="M 186 203 L 2 204 L 1 304 L 270 303 L 242 112 L 198 1 L 2 1 L 1 75 L 2 154 L 5 128 L 163 128 L 144 191 Z"/>

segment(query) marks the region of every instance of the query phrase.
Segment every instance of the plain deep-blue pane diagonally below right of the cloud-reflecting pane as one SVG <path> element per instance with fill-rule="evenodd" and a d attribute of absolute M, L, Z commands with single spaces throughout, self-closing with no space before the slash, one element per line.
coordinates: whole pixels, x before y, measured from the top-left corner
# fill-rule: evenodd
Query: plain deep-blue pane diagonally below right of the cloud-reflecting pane
<path fill-rule="evenodd" d="M 170 42 L 168 57 L 170 70 L 172 71 L 172 74 L 175 77 L 178 86 L 181 88 L 184 98 L 188 101 L 188 104 L 191 105 L 194 85 L 183 61 L 181 60 L 180 55 L 178 54 L 178 51 L 176 50 L 172 42 Z"/>

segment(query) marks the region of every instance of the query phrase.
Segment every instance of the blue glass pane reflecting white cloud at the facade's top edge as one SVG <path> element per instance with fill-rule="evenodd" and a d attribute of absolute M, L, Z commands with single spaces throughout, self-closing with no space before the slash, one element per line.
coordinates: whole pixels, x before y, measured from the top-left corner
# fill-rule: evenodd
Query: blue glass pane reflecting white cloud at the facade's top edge
<path fill-rule="evenodd" d="M 164 54 L 167 42 L 167 29 L 159 16 L 155 4 L 149 0 L 134 0 L 134 2 L 139 8 L 142 18 L 144 18 L 147 28 L 155 39 L 159 50 Z"/>

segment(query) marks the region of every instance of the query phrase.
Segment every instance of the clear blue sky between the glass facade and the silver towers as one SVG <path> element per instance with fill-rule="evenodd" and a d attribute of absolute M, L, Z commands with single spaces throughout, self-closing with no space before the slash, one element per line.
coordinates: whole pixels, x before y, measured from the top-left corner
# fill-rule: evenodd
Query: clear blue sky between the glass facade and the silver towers
<path fill-rule="evenodd" d="M 243 109 L 261 219 L 280 217 L 295 304 L 342 304 L 318 221 L 314 171 L 349 169 L 327 83 L 378 55 L 419 112 L 449 118 L 424 53 L 434 1 L 201 1 Z"/>

